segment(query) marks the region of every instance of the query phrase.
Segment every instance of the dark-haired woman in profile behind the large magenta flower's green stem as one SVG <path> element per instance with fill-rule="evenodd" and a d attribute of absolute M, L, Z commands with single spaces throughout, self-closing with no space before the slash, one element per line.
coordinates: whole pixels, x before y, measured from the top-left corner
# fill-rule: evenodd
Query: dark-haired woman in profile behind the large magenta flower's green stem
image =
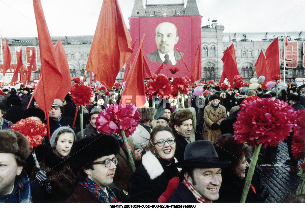
<path fill-rule="evenodd" d="M 239 203 L 245 185 L 252 147 L 245 143 L 237 143 L 232 134 L 224 134 L 215 141 L 215 150 L 220 160 L 230 160 L 231 165 L 222 168 L 222 183 L 219 198 L 214 203 Z M 254 176 L 251 182 L 246 203 L 263 203 L 269 196 L 268 187 L 260 186 L 259 176 Z"/>

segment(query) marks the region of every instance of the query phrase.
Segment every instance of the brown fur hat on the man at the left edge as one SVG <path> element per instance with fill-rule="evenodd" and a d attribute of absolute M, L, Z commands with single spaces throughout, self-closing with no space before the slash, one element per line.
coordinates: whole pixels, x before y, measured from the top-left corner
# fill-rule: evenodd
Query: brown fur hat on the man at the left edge
<path fill-rule="evenodd" d="M 11 130 L 0 130 L 0 153 L 13 153 L 22 160 L 30 155 L 30 144 L 22 134 Z"/>

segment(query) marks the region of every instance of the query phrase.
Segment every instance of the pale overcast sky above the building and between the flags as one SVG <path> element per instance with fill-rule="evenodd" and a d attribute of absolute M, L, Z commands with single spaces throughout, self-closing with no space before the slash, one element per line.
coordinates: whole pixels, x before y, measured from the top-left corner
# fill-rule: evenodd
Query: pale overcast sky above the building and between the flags
<path fill-rule="evenodd" d="M 118 1 L 129 28 L 127 18 L 134 0 Z M 41 2 L 51 36 L 94 35 L 102 0 Z M 148 4 L 162 2 L 165 0 L 147 0 Z M 166 2 L 182 3 L 182 0 Z M 208 18 L 210 22 L 218 20 L 224 32 L 305 31 L 305 0 L 197 0 L 197 6 L 203 16 L 202 26 Z M 32 0 L 0 0 L 0 31 L 2 37 L 37 36 Z"/>

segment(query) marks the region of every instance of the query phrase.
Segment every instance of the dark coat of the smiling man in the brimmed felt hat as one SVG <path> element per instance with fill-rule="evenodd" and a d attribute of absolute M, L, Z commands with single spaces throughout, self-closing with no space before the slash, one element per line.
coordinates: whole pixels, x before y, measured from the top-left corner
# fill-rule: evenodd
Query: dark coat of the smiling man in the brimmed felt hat
<path fill-rule="evenodd" d="M 192 192 L 180 181 L 167 203 L 199 203 Z"/>

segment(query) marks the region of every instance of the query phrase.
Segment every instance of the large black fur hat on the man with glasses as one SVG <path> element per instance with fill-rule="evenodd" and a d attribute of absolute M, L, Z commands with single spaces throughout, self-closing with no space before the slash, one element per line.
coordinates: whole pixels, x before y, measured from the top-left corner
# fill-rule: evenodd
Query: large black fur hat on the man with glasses
<path fill-rule="evenodd" d="M 116 155 L 119 151 L 120 145 L 113 135 L 87 136 L 74 142 L 70 152 L 70 165 L 74 173 L 77 173 L 85 164 L 103 156 Z"/>

